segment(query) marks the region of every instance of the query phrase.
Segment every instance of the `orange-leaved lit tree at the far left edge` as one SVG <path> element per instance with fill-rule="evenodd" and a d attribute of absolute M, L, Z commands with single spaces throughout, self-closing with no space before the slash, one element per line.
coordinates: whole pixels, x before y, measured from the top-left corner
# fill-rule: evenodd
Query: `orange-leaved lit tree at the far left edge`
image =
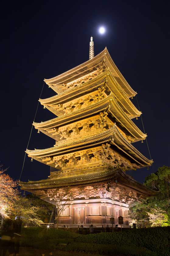
<path fill-rule="evenodd" d="M 0 166 L 0 228 L 4 218 L 9 218 L 15 208 L 15 202 L 18 200 L 17 183 L 8 174 L 5 174 L 6 170 L 2 169 L 2 165 Z"/>

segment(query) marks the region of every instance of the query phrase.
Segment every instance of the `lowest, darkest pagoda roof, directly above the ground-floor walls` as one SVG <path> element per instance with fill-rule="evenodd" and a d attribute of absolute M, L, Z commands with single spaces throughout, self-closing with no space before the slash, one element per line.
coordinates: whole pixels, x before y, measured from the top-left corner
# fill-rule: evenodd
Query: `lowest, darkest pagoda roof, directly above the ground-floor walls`
<path fill-rule="evenodd" d="M 70 179 L 58 180 L 56 179 L 46 179 L 40 181 L 29 181 L 23 182 L 19 181 L 19 185 L 21 189 L 24 189 L 29 192 L 37 193 L 39 196 L 43 194 L 43 190 L 45 189 L 52 189 L 52 188 L 63 188 L 63 187 L 82 187 L 83 185 L 98 185 L 99 182 L 107 182 L 107 181 L 114 181 L 117 180 L 115 186 L 123 187 L 125 190 L 135 191 L 138 194 L 142 194 L 144 196 L 154 196 L 157 194 L 156 191 L 147 188 L 145 185 L 141 184 L 140 182 L 134 180 L 133 177 L 127 175 L 122 170 L 110 170 L 109 173 L 106 175 L 95 175 L 89 174 L 87 176 L 80 176 L 80 177 L 72 177 Z"/>

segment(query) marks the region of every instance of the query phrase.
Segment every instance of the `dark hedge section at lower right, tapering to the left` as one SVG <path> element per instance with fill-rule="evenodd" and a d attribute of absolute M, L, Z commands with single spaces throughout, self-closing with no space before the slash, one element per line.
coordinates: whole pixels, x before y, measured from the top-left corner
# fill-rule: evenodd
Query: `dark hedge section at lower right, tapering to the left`
<path fill-rule="evenodd" d="M 170 254 L 170 227 L 147 229 L 127 229 L 125 232 L 99 233 L 82 235 L 76 239 L 78 243 L 113 244 L 147 248 L 159 255 Z"/>

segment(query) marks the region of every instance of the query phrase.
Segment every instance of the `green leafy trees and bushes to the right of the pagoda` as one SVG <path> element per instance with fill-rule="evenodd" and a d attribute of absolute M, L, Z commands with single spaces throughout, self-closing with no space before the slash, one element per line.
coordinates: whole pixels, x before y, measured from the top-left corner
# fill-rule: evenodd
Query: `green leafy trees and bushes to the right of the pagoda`
<path fill-rule="evenodd" d="M 137 203 L 130 208 L 130 224 L 144 226 L 170 225 L 170 167 L 162 166 L 158 171 L 150 174 L 144 183 L 147 187 L 157 191 L 156 196 L 147 198 L 143 203 Z"/>

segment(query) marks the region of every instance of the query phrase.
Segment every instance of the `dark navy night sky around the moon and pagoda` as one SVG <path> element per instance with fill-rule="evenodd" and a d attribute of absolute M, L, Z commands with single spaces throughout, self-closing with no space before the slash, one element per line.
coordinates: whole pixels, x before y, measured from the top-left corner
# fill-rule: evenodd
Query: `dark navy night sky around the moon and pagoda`
<path fill-rule="evenodd" d="M 43 79 L 82 64 L 105 47 L 137 91 L 153 167 L 129 171 L 137 181 L 170 165 L 169 1 L 6 1 L 1 5 L 0 162 L 19 179 Z M 99 35 L 100 25 L 106 34 Z M 45 84 L 41 98 L 55 94 Z M 137 107 L 136 97 L 132 100 Z M 55 116 L 39 105 L 36 122 Z M 133 121 L 143 131 L 141 119 Z M 29 149 L 49 148 L 54 140 L 33 128 Z M 134 146 L 149 158 L 146 141 Z M 50 167 L 26 161 L 22 181 L 47 178 Z"/>

